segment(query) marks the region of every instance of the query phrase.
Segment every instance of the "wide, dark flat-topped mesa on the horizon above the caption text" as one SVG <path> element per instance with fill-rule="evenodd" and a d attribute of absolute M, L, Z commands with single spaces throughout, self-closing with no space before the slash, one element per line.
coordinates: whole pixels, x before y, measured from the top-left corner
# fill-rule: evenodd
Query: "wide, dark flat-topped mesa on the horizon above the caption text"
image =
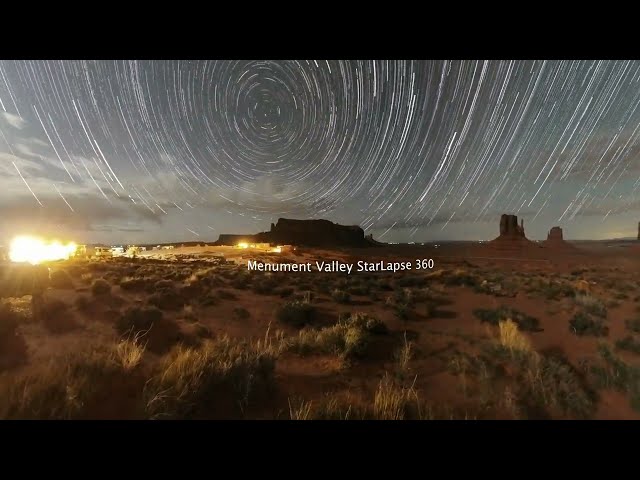
<path fill-rule="evenodd" d="M 310 247 L 365 247 L 377 242 L 367 239 L 364 230 L 356 225 L 339 225 L 329 220 L 293 220 L 279 218 L 271 230 L 255 235 L 222 234 L 217 245 L 236 245 L 239 242 L 300 245 Z"/>

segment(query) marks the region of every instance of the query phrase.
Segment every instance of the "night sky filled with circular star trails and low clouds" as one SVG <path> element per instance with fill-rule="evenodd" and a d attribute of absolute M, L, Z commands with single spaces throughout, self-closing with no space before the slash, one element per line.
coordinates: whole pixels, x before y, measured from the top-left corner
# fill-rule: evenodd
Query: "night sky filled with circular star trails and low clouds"
<path fill-rule="evenodd" d="M 0 61 L 0 243 L 635 236 L 637 61 Z"/>

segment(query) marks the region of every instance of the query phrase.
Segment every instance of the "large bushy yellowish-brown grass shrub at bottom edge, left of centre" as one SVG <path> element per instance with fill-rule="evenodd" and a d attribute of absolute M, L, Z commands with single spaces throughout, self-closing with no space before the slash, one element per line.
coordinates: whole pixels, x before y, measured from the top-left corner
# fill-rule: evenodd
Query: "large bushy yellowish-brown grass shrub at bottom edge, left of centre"
<path fill-rule="evenodd" d="M 273 383 L 274 351 L 223 337 L 199 348 L 177 346 L 145 386 L 150 418 L 215 418 L 246 408 Z M 226 408 L 225 408 L 226 407 Z"/>

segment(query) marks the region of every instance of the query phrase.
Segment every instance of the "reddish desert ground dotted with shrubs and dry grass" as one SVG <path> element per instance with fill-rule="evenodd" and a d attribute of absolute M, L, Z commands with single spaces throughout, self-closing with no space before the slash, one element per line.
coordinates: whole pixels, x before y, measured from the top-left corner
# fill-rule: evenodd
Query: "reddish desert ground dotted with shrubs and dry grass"
<path fill-rule="evenodd" d="M 246 266 L 333 259 L 433 268 Z M 629 242 L 5 264 L 0 418 L 640 419 L 638 272 Z"/>

